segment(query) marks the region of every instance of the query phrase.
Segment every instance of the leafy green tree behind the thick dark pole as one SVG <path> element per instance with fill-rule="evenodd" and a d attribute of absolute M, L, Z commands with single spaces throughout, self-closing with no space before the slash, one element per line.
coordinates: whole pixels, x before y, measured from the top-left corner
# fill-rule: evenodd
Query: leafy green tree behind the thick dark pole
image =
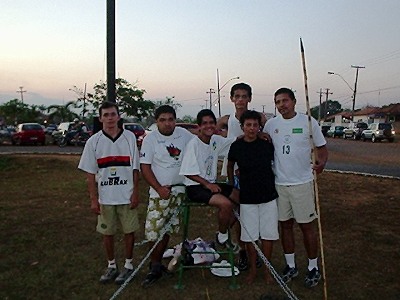
<path fill-rule="evenodd" d="M 87 100 L 96 110 L 107 98 L 107 84 L 100 81 L 93 87 L 94 93 L 87 94 Z M 137 117 L 139 120 L 153 113 L 155 104 L 150 100 L 144 100 L 145 90 L 129 83 L 127 80 L 118 78 L 115 80 L 116 102 L 119 105 L 120 112 L 127 116 Z"/>

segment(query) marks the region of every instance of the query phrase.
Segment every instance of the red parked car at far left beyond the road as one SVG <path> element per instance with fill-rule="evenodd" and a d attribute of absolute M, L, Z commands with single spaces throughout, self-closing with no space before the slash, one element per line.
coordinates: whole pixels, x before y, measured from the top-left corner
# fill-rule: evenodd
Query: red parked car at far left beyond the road
<path fill-rule="evenodd" d="M 16 132 L 11 137 L 13 145 L 46 143 L 46 137 L 42 126 L 38 123 L 18 124 Z"/>

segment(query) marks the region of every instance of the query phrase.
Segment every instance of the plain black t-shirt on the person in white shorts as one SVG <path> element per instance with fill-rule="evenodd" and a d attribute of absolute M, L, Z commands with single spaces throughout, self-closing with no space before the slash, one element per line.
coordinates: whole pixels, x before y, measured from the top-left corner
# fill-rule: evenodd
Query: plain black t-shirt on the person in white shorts
<path fill-rule="evenodd" d="M 228 160 L 239 167 L 241 204 L 260 204 L 278 198 L 271 167 L 273 159 L 274 146 L 266 140 L 239 139 L 231 145 Z"/>

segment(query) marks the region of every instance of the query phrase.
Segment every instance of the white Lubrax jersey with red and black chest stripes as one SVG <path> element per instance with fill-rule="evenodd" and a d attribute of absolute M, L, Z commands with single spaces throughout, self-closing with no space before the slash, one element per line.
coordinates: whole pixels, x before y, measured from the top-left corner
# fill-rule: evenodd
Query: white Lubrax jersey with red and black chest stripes
<path fill-rule="evenodd" d="M 133 193 L 133 170 L 139 170 L 135 135 L 127 130 L 112 139 L 104 131 L 89 138 L 78 168 L 98 175 L 99 203 L 129 204 Z"/>

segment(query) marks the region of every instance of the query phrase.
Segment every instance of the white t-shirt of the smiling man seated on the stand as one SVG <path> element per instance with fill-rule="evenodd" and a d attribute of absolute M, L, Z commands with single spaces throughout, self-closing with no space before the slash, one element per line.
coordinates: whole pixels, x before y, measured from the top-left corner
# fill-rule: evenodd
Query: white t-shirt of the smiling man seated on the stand
<path fill-rule="evenodd" d="M 209 182 L 217 180 L 218 156 L 227 156 L 231 144 L 236 138 L 224 138 L 214 134 L 210 144 L 206 144 L 198 137 L 189 142 L 183 155 L 179 174 L 199 175 Z M 185 177 L 185 185 L 197 185 L 198 182 Z"/>

